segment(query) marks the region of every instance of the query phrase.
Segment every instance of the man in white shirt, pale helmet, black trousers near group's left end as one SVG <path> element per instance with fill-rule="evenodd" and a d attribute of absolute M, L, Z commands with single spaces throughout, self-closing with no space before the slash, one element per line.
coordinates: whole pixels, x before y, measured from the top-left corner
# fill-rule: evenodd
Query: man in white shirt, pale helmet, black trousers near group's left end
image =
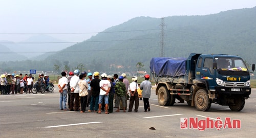
<path fill-rule="evenodd" d="M 75 70 L 74 71 L 74 76 L 70 79 L 70 111 L 79 111 L 79 75 L 80 71 L 79 70 Z M 75 103 L 74 103 L 75 100 Z"/>

